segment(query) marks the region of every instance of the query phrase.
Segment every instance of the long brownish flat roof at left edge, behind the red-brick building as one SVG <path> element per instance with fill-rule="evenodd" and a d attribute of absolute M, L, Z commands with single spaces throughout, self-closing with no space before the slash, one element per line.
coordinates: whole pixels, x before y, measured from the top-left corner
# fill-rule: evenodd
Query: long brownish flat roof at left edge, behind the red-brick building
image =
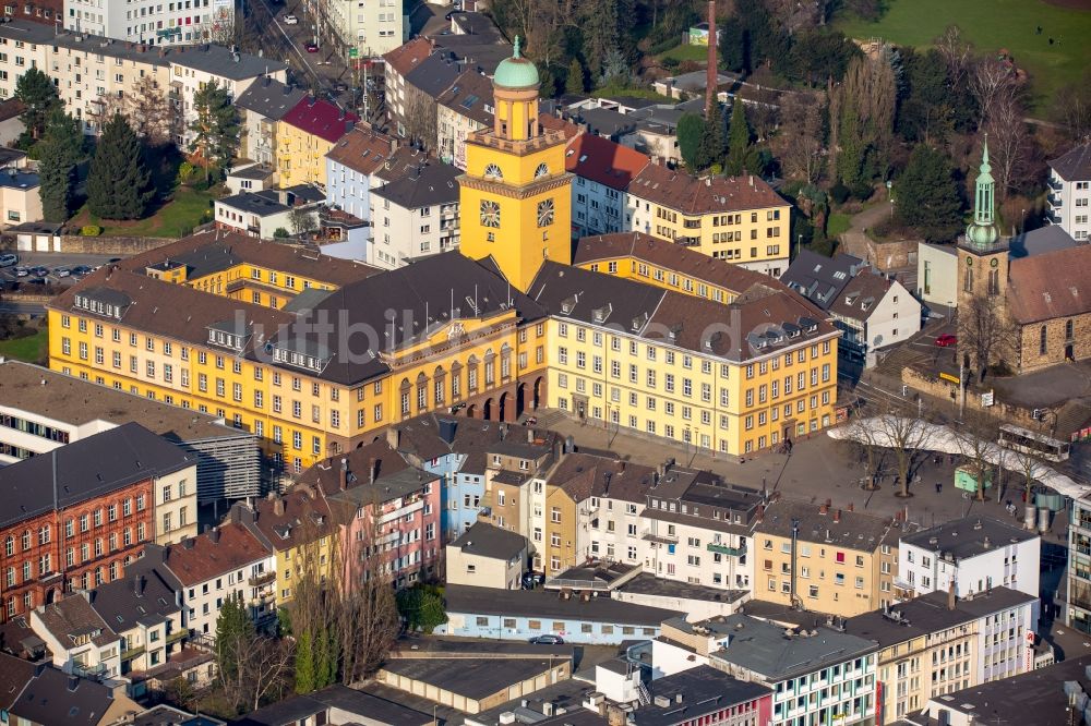
<path fill-rule="evenodd" d="M 0 407 L 73 426 L 92 421 L 119 425 L 135 422 L 175 443 L 253 436 L 205 413 L 167 406 L 21 361 L 0 363 Z"/>

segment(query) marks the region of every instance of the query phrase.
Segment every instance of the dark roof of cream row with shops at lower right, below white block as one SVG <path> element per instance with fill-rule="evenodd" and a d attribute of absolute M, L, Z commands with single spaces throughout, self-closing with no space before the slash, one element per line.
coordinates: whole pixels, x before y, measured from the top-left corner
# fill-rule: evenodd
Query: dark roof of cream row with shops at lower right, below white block
<path fill-rule="evenodd" d="M 886 648 L 1038 600 L 1017 590 L 993 588 L 972 598 L 956 601 L 955 609 L 950 609 L 947 597 L 946 592 L 930 592 L 892 605 L 889 612 L 875 610 L 849 618 L 844 629 Z"/>

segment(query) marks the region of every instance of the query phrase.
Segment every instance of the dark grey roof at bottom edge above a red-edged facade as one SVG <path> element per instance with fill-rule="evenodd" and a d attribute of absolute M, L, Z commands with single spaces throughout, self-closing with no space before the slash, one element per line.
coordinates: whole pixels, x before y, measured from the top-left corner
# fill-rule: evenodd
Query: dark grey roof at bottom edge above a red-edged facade
<path fill-rule="evenodd" d="M 651 703 L 632 713 L 635 726 L 674 726 L 771 692 L 760 683 L 732 678 L 707 665 L 652 680 L 648 691 Z M 666 704 L 659 705 L 658 699 L 666 699 Z"/>

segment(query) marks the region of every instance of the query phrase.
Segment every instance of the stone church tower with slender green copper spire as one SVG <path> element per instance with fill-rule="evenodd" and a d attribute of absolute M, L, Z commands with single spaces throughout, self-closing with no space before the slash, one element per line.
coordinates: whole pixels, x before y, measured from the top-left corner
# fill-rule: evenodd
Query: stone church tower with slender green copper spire
<path fill-rule="evenodd" d="M 973 221 L 966 228 L 966 238 L 958 245 L 959 307 L 974 298 L 1004 304 L 1008 279 L 1008 243 L 1000 240 L 993 219 L 995 187 L 993 169 L 988 165 L 988 138 L 982 149 L 981 167 L 973 194 Z"/>

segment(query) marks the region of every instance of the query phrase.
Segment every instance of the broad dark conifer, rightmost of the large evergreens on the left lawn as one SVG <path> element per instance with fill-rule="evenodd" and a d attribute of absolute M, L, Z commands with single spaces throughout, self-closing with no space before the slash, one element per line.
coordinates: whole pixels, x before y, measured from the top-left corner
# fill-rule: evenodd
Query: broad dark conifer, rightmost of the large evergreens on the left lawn
<path fill-rule="evenodd" d="M 103 219 L 140 219 L 155 190 L 136 132 L 120 113 L 106 125 L 87 177 L 87 207 Z"/>

